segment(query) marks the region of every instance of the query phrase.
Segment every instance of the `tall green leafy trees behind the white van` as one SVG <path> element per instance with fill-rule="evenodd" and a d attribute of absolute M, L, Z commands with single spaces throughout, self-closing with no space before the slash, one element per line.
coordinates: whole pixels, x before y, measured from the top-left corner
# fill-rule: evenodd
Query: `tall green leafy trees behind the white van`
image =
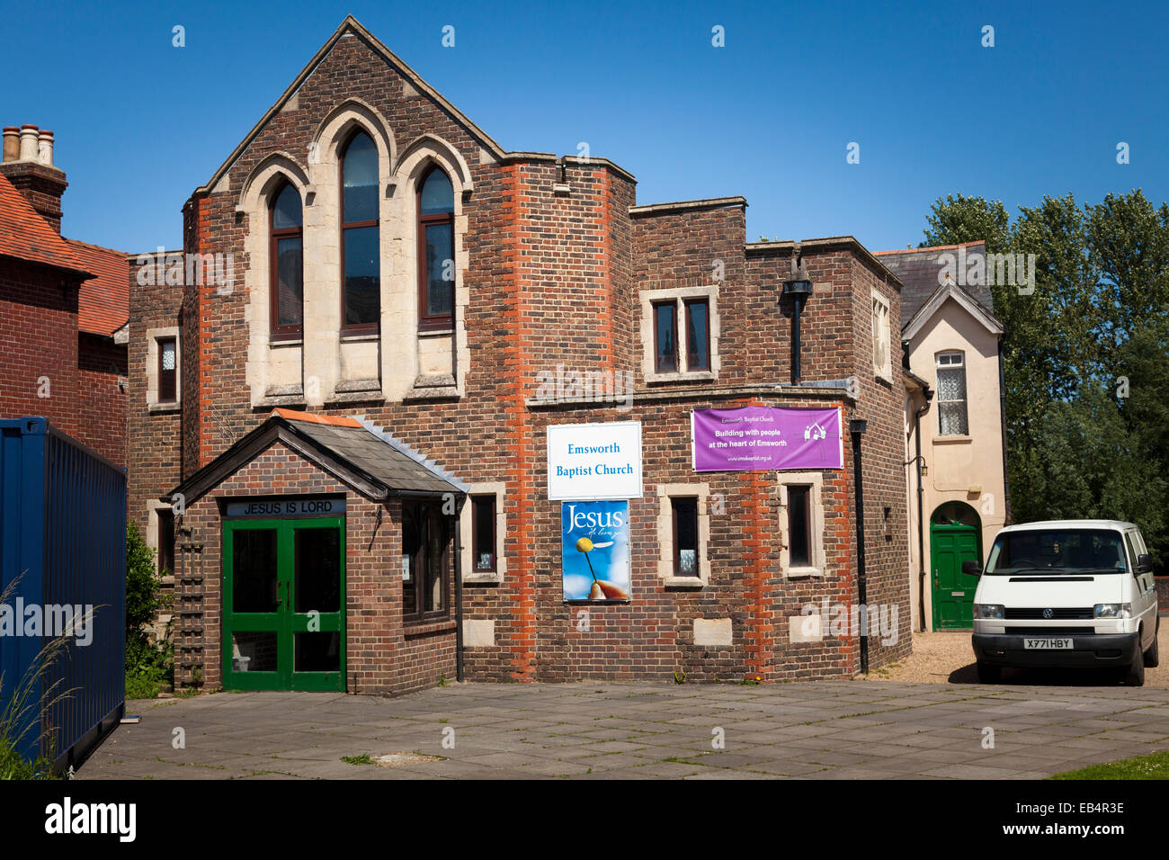
<path fill-rule="evenodd" d="M 1097 205 L 939 198 L 922 247 L 983 240 L 1035 254 L 1036 289 L 994 284 L 1005 326 L 1008 476 L 1016 522 L 1141 527 L 1169 565 L 1169 206 L 1140 190 Z"/>

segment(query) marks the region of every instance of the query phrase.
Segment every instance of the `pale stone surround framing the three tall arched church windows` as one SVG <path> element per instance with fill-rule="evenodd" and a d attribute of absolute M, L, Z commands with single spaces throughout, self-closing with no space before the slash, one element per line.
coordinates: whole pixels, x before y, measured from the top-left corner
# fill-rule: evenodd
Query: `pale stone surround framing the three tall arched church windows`
<path fill-rule="evenodd" d="M 341 379 L 341 350 L 369 337 L 340 335 L 340 241 L 339 150 L 361 129 L 378 147 L 379 241 L 381 252 L 381 331 L 376 365 L 380 379 Z M 468 216 L 463 199 L 473 183 L 463 156 L 449 143 L 422 135 L 401 153 L 393 132 L 378 110 L 361 99 L 339 105 L 320 124 L 304 161 L 290 152 L 267 156 L 248 177 L 236 212 L 245 214 L 249 231 L 244 250 L 249 266 L 244 273 L 248 291 L 245 321 L 249 326 L 247 379 L 254 406 L 264 407 L 296 401 L 316 406 L 345 399 L 368 401 L 371 394 L 386 401 L 419 398 L 462 397 L 470 369 L 466 346 L 465 311 L 470 289 L 464 273 L 469 268 L 464 243 Z M 455 329 L 438 332 L 452 338 L 456 359 L 452 373 L 442 379 L 419 373 L 417 333 L 417 246 L 415 186 L 421 174 L 437 164 L 445 171 L 455 191 Z M 305 330 L 300 342 L 271 342 L 269 338 L 269 236 L 268 205 L 275 188 L 288 180 L 304 204 L 304 289 Z M 317 325 L 312 325 L 316 318 Z M 316 330 L 313 330 L 316 328 Z M 397 332 L 393 336 L 389 332 Z M 433 335 L 433 332 L 430 333 Z M 374 340 L 379 338 L 374 337 Z M 269 371 L 275 353 L 295 350 L 288 360 L 299 360 L 300 384 L 274 385 Z M 285 353 L 286 355 L 286 353 Z"/>

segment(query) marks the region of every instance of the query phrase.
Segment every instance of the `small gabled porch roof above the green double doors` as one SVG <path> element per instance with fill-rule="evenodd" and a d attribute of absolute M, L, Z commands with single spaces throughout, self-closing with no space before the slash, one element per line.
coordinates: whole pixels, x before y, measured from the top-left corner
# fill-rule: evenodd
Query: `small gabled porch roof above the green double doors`
<path fill-rule="evenodd" d="M 268 420 L 175 487 L 189 505 L 238 469 L 282 442 L 318 468 L 367 498 L 466 494 L 466 484 L 369 422 L 291 410 L 275 410 Z"/>

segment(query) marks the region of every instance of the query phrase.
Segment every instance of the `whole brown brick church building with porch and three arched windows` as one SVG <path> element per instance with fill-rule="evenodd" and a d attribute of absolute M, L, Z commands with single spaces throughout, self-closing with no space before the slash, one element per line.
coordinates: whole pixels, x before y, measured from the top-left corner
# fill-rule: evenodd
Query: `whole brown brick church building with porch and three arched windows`
<path fill-rule="evenodd" d="M 504 150 L 346 19 L 184 248 L 132 261 L 130 515 L 173 535 L 177 681 L 904 658 L 900 282 L 850 236 L 747 242 L 746 206 Z M 732 465 L 756 420 L 798 424 L 784 467 Z M 832 624 L 860 603 L 879 634 Z"/>

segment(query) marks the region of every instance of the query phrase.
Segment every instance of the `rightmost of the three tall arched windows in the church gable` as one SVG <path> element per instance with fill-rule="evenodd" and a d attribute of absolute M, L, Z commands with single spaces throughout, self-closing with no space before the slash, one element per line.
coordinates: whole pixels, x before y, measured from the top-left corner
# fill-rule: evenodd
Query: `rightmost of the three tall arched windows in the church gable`
<path fill-rule="evenodd" d="M 455 190 L 438 167 L 419 183 L 419 328 L 455 319 Z"/>

